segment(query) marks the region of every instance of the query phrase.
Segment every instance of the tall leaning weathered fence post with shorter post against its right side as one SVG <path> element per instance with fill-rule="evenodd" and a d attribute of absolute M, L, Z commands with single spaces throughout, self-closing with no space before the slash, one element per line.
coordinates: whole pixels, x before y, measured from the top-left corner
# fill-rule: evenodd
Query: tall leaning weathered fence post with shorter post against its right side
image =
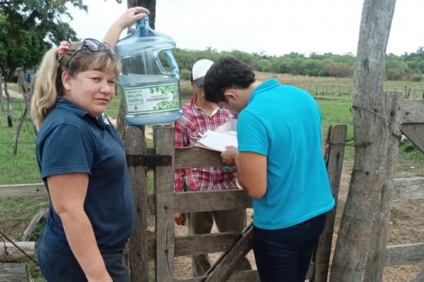
<path fill-rule="evenodd" d="M 354 73 L 355 162 L 330 281 L 382 281 L 400 137 L 399 93 L 383 91 L 396 0 L 365 0 Z"/>

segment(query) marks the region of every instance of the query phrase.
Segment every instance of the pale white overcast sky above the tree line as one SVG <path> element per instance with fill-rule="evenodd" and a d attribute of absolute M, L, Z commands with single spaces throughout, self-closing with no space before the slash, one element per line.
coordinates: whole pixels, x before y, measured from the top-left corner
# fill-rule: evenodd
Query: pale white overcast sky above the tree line
<path fill-rule="evenodd" d="M 84 0 L 88 13 L 69 8 L 63 19 L 80 38 L 102 39 L 127 2 Z M 297 52 L 356 54 L 363 0 L 156 0 L 155 30 L 180 49 L 282 56 Z M 387 53 L 424 47 L 423 0 L 398 0 Z M 126 35 L 122 32 L 121 38 Z"/>

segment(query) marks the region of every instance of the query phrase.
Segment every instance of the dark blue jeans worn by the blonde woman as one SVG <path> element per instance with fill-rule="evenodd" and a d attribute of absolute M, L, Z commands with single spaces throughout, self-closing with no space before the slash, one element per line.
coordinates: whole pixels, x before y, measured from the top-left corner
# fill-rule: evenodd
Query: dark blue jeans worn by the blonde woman
<path fill-rule="evenodd" d="M 129 282 L 122 264 L 123 250 L 100 250 L 107 272 L 114 282 Z M 86 275 L 71 250 L 59 245 L 46 228 L 37 242 L 37 259 L 42 275 L 49 282 L 85 282 Z"/>

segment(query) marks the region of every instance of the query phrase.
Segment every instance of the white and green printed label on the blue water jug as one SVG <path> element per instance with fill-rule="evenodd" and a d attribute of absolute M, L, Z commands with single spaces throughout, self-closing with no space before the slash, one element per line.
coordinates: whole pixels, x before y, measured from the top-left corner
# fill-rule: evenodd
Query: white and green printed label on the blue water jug
<path fill-rule="evenodd" d="M 126 114 L 149 114 L 179 109 L 178 83 L 124 89 Z"/>

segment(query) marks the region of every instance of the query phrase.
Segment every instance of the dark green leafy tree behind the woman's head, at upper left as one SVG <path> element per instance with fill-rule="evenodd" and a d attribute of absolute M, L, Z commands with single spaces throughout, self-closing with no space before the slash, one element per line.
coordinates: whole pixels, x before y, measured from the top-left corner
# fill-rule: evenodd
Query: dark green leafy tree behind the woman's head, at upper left
<path fill-rule="evenodd" d="M 36 66 L 52 44 L 78 39 L 61 21 L 72 19 L 66 4 L 87 11 L 83 0 L 0 1 L 0 68 L 6 80 L 11 81 L 18 67 Z"/>

